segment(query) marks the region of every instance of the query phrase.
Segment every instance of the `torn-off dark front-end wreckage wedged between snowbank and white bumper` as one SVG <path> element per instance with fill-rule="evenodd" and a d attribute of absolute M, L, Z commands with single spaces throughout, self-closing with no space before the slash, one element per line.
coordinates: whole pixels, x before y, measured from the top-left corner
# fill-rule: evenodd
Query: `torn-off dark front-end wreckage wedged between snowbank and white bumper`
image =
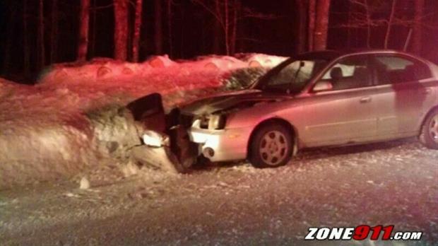
<path fill-rule="evenodd" d="M 126 107 L 134 119 L 147 129 L 140 133 L 143 144 L 150 148 L 162 148 L 167 162 L 177 172 L 188 172 L 199 156 L 199 146 L 190 141 L 187 129 L 178 109 L 165 114 L 162 98 L 158 93 L 146 95 L 130 102 Z"/>

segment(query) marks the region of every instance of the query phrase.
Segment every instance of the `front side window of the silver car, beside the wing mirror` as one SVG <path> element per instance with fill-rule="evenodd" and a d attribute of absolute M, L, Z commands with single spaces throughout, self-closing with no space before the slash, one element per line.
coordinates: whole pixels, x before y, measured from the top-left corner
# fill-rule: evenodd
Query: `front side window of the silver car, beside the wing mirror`
<path fill-rule="evenodd" d="M 330 81 L 333 90 L 372 86 L 372 71 L 368 66 L 368 56 L 345 57 L 332 66 L 322 79 Z"/>

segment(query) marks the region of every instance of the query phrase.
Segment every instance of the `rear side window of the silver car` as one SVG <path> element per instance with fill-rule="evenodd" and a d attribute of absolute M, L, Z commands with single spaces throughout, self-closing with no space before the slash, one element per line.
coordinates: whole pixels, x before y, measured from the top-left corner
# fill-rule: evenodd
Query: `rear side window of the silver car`
<path fill-rule="evenodd" d="M 420 81 L 432 76 L 425 64 L 405 57 L 378 55 L 374 61 L 379 85 Z"/>

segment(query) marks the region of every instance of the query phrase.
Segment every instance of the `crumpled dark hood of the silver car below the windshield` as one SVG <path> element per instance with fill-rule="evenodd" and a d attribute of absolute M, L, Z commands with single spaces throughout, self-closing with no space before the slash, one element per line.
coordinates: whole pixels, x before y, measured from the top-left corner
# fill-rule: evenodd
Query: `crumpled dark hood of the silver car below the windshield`
<path fill-rule="evenodd" d="M 288 98 L 288 95 L 265 93 L 261 90 L 238 90 L 196 100 L 182 107 L 181 111 L 188 115 L 210 115 Z"/>

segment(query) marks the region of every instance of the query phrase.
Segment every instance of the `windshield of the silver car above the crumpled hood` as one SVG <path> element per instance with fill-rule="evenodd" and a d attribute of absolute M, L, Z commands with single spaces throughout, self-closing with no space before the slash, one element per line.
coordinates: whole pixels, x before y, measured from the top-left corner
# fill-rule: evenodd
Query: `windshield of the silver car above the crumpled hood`
<path fill-rule="evenodd" d="M 325 59 L 288 59 L 268 71 L 254 88 L 271 92 L 299 93 L 327 62 Z"/>

